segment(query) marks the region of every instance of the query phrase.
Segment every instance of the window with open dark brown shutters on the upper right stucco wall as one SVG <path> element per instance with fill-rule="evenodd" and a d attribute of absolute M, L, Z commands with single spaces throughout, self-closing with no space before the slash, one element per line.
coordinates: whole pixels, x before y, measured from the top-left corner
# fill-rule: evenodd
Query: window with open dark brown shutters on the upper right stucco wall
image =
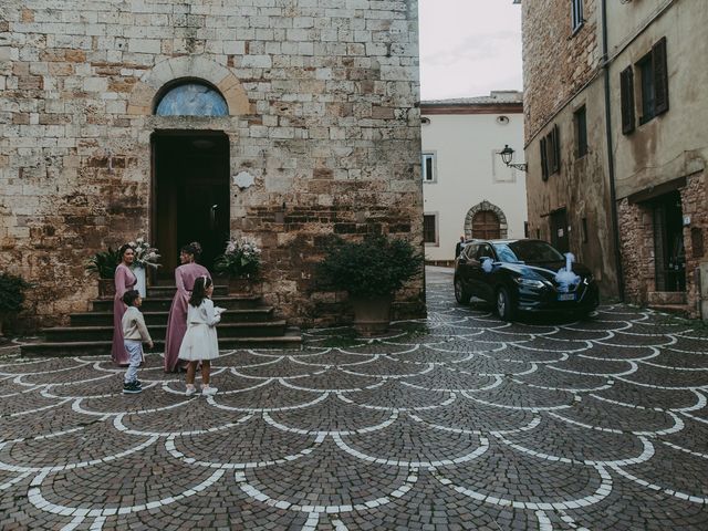
<path fill-rule="evenodd" d="M 668 70 L 666 64 L 666 38 L 659 40 L 652 51 L 636 63 L 638 95 L 642 116 L 639 125 L 668 111 Z M 622 133 L 635 129 L 634 71 L 626 67 L 620 74 L 622 98 Z"/>

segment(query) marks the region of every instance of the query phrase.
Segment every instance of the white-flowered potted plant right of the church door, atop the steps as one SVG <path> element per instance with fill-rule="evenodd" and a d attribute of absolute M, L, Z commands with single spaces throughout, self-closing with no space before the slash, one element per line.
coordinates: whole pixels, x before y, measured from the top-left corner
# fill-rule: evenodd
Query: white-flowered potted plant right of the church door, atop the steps
<path fill-rule="evenodd" d="M 252 293 L 260 280 L 261 249 L 249 238 L 231 239 L 215 259 L 214 269 L 228 278 L 230 293 Z"/>

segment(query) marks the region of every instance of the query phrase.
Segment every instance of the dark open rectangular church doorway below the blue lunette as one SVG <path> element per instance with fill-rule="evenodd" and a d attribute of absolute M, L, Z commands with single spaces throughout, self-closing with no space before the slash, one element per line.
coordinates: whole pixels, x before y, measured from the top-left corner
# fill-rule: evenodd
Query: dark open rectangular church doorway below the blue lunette
<path fill-rule="evenodd" d="M 214 259 L 229 238 L 229 139 L 222 132 L 169 131 L 152 137 L 153 240 L 162 254 L 158 279 L 173 279 L 179 248 L 202 247 L 200 263 Z"/>

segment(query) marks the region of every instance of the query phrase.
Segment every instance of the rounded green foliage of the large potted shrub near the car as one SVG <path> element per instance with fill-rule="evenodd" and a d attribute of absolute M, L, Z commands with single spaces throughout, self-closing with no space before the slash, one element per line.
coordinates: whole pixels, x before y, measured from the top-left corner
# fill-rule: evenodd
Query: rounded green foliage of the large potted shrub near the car
<path fill-rule="evenodd" d="M 316 287 L 354 296 L 391 295 L 421 270 L 423 254 L 405 240 L 384 236 L 358 242 L 337 239 L 316 267 Z"/>

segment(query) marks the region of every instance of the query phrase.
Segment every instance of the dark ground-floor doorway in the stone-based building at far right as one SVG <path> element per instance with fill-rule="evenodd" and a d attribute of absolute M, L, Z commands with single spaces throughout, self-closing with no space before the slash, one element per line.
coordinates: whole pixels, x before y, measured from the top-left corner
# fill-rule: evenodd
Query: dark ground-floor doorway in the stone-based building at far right
<path fill-rule="evenodd" d="M 686 251 L 681 196 L 676 191 L 653 201 L 656 291 L 686 291 Z"/>

